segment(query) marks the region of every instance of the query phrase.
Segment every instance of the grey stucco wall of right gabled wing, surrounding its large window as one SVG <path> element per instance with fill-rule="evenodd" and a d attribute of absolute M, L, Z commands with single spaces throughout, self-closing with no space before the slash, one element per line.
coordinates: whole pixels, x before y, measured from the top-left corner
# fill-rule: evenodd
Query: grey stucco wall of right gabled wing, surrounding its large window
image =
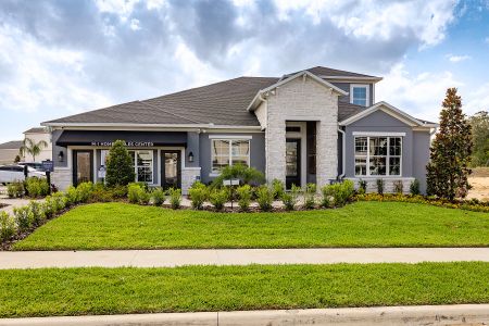
<path fill-rule="evenodd" d="M 377 111 L 346 127 L 346 177 L 354 173 L 354 131 L 405 133 L 402 137 L 401 177 L 419 180 L 421 190 L 426 190 L 426 164 L 429 159 L 429 131 L 413 131 L 412 127 L 391 115 Z M 375 177 L 375 176 L 373 176 Z"/>

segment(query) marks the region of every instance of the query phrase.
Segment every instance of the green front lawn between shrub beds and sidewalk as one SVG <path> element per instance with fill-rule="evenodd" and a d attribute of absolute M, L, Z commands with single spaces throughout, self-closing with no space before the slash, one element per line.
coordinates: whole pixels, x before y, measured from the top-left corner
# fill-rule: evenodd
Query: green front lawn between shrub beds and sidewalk
<path fill-rule="evenodd" d="M 400 202 L 291 213 L 172 211 L 124 203 L 76 208 L 14 250 L 311 247 L 487 247 L 489 214 Z"/>

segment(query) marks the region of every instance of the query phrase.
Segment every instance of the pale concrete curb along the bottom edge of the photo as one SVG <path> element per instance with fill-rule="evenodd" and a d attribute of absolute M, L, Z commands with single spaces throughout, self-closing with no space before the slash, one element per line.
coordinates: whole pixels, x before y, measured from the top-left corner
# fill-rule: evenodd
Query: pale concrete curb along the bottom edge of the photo
<path fill-rule="evenodd" d="M 489 304 L 268 310 L 0 319 L 4 326 L 487 325 Z"/>

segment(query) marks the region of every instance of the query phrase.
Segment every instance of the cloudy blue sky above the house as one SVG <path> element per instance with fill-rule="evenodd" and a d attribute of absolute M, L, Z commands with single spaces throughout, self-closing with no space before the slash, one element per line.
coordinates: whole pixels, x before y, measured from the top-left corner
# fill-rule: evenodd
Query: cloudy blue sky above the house
<path fill-rule="evenodd" d="M 489 0 L 0 1 L 0 142 L 43 121 L 323 65 L 438 121 L 489 110 Z"/>

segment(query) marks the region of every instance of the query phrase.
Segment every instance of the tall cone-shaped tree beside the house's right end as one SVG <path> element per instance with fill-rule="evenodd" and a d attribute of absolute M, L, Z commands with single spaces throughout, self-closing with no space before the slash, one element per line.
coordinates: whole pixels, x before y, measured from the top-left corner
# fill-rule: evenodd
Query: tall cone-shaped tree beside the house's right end
<path fill-rule="evenodd" d="M 453 200 L 464 198 L 472 154 L 472 131 L 456 88 L 449 88 L 440 113 L 440 128 L 431 145 L 427 168 L 428 195 Z"/>

